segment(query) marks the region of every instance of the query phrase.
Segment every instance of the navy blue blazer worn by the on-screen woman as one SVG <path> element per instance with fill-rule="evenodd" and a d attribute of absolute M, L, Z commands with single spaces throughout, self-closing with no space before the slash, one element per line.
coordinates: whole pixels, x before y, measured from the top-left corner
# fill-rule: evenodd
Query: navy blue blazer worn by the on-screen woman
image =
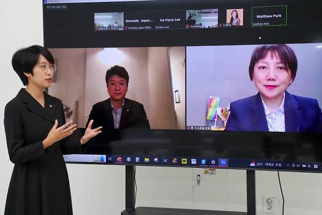
<path fill-rule="evenodd" d="M 295 96 L 285 91 L 286 132 L 322 132 L 322 112 L 314 98 Z M 230 103 L 226 131 L 269 131 L 264 106 L 258 93 Z"/>

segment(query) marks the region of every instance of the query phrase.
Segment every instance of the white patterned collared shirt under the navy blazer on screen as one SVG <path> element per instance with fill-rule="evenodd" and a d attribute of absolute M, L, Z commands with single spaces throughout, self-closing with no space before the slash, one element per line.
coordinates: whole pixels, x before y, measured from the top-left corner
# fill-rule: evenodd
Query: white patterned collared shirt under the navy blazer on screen
<path fill-rule="evenodd" d="M 262 96 L 260 97 L 262 99 L 263 106 L 264 106 L 268 130 L 275 131 L 275 132 L 285 132 L 285 115 L 284 115 L 285 92 L 283 95 L 282 103 L 280 104 L 278 110 L 274 113 L 270 113 Z"/>

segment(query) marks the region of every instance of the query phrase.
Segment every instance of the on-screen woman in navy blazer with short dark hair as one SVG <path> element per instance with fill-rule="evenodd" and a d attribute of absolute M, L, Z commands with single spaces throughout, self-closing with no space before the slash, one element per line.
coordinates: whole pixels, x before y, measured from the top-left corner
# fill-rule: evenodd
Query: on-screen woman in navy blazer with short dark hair
<path fill-rule="evenodd" d="M 249 75 L 259 92 L 230 103 L 225 130 L 322 132 L 318 101 L 286 91 L 295 79 L 297 68 L 297 57 L 287 45 L 256 48 Z"/>

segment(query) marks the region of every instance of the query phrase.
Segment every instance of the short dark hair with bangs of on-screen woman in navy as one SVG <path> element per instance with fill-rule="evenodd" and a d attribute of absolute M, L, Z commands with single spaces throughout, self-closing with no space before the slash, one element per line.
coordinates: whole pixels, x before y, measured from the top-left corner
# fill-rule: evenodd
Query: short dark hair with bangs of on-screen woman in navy
<path fill-rule="evenodd" d="M 272 56 L 273 54 L 277 54 L 279 56 L 284 67 L 287 68 L 287 70 L 290 70 L 292 80 L 294 80 L 296 72 L 298 70 L 298 58 L 296 57 L 293 49 L 285 44 L 264 45 L 253 50 L 251 62 L 248 68 L 251 80 L 253 81 L 255 64 L 261 59 L 265 58 L 269 52 L 271 52 Z"/>

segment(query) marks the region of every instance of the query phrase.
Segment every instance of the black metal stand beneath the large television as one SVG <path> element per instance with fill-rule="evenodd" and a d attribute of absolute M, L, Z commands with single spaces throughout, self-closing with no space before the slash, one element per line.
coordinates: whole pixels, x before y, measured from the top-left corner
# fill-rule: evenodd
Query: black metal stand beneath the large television
<path fill-rule="evenodd" d="M 121 215 L 256 215 L 255 170 L 246 170 L 247 212 L 234 212 L 155 207 L 135 208 L 134 167 L 125 166 L 125 210 L 121 212 Z"/>

